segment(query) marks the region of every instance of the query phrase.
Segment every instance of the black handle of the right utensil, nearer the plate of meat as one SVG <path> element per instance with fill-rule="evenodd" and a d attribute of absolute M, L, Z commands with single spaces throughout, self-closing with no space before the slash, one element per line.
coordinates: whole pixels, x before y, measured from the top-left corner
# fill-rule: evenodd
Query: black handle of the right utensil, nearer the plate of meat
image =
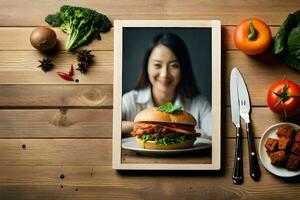
<path fill-rule="evenodd" d="M 250 165 L 250 176 L 254 181 L 260 179 L 261 173 L 257 160 L 255 144 L 252 137 L 252 132 L 250 131 L 250 124 L 246 123 L 247 137 L 248 137 L 248 153 L 249 153 L 249 165 Z"/>

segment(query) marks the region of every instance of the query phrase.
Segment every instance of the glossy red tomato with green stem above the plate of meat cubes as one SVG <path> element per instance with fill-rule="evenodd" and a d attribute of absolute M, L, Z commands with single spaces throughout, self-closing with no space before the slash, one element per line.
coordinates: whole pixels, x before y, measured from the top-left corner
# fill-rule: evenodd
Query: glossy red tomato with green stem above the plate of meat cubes
<path fill-rule="evenodd" d="M 300 112 L 300 87 L 290 80 L 280 80 L 270 87 L 267 100 L 273 112 L 292 117 Z"/>

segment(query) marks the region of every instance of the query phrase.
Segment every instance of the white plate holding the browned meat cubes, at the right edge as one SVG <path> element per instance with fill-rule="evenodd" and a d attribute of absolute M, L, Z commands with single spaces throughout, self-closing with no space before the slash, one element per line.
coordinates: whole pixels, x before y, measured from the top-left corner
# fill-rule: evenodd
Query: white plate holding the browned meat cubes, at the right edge
<path fill-rule="evenodd" d="M 263 134 L 263 136 L 260 139 L 259 142 L 259 157 L 261 162 L 263 163 L 264 167 L 269 170 L 269 172 L 271 172 L 272 174 L 275 174 L 277 176 L 281 176 L 281 177 L 292 177 L 292 176 L 297 176 L 300 174 L 300 170 L 298 171 L 289 171 L 283 167 L 276 167 L 274 165 L 271 164 L 270 158 L 266 152 L 266 148 L 265 148 L 265 143 L 267 141 L 268 138 L 278 138 L 276 135 L 277 129 L 282 126 L 282 125 L 290 125 L 292 126 L 294 129 L 299 129 L 300 126 L 298 126 L 297 124 L 293 124 L 293 123 L 278 123 L 278 124 L 274 124 L 273 126 L 270 126 Z"/>

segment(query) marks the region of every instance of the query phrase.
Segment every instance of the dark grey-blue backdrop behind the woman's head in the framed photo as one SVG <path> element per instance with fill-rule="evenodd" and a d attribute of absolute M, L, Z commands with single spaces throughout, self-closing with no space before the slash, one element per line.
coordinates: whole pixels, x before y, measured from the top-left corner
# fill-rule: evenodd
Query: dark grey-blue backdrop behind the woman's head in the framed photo
<path fill-rule="evenodd" d="M 211 103 L 211 28 L 123 28 L 122 94 L 133 89 L 149 42 L 164 32 L 176 34 L 185 42 L 197 87 Z"/>

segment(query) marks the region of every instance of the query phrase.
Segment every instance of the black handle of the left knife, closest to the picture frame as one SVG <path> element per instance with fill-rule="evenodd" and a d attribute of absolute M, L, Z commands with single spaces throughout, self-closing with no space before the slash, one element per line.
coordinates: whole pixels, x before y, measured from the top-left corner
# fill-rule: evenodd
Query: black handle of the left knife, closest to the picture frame
<path fill-rule="evenodd" d="M 242 154 L 242 137 L 240 127 L 236 127 L 236 145 L 235 157 L 232 172 L 232 180 L 234 184 L 243 183 L 243 154 Z"/>

